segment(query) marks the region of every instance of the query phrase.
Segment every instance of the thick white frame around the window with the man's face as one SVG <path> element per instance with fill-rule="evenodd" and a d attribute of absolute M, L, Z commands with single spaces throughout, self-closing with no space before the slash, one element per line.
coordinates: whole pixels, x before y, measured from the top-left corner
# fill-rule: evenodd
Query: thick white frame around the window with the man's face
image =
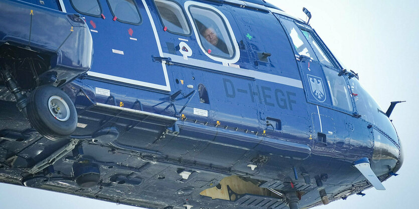
<path fill-rule="evenodd" d="M 191 22 L 192 25 L 192 29 L 194 31 L 195 34 L 195 38 L 198 42 L 199 47 L 201 48 L 202 52 L 209 57 L 210 59 L 214 60 L 214 61 L 218 61 L 218 62 L 222 62 L 222 63 L 236 63 L 239 59 L 240 59 L 240 50 L 236 41 L 236 37 L 233 33 L 233 30 L 231 28 L 231 25 L 227 19 L 227 17 L 225 17 L 225 15 L 219 11 L 218 9 L 208 5 L 208 4 L 204 4 L 204 3 L 200 3 L 200 2 L 193 2 L 193 1 L 188 1 L 185 2 L 185 11 L 188 15 L 189 21 Z M 222 57 L 222 56 L 217 56 L 217 55 L 212 55 L 209 54 L 206 50 L 205 47 L 203 46 L 202 40 L 201 40 L 201 36 L 199 31 L 197 30 L 197 25 L 194 21 L 194 18 L 192 16 L 192 13 L 190 11 L 191 7 L 196 7 L 196 8 L 200 8 L 200 9 L 204 9 L 204 10 L 208 10 L 211 11 L 213 13 L 215 13 L 216 15 L 218 15 L 220 17 L 220 19 L 222 20 L 225 30 L 227 31 L 228 35 L 229 35 L 229 40 L 231 42 L 231 46 L 233 48 L 233 55 L 231 58 L 226 58 L 226 57 Z M 193 23 L 193 24 L 192 24 Z"/>

